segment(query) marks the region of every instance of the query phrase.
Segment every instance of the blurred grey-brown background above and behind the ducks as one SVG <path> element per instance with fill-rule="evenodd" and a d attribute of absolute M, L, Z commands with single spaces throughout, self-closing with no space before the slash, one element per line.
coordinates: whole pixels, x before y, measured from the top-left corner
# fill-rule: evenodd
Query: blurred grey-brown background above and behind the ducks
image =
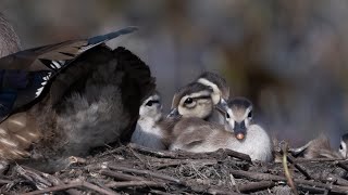
<path fill-rule="evenodd" d="M 165 112 L 175 90 L 213 70 L 293 146 L 325 133 L 336 148 L 348 130 L 348 1 L 1 0 L 0 12 L 22 49 L 138 26 L 110 46 L 150 65 Z"/>

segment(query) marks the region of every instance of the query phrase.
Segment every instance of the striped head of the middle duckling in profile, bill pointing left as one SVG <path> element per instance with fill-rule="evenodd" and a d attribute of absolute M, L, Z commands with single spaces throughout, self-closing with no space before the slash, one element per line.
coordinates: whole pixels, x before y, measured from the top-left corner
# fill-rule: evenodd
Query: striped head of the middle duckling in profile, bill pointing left
<path fill-rule="evenodd" d="M 212 93 L 211 87 L 198 82 L 185 86 L 175 93 L 167 118 L 209 117 L 214 108 Z"/>

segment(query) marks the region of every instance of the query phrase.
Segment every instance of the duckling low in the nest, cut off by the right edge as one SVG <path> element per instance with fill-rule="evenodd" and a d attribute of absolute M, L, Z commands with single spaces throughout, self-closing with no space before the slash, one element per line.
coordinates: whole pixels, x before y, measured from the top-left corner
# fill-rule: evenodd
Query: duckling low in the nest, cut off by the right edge
<path fill-rule="evenodd" d="M 341 135 L 338 150 L 332 148 L 328 138 L 321 133 L 318 138 L 309 141 L 301 147 L 290 148 L 290 153 L 295 157 L 306 159 L 313 158 L 347 158 L 348 133 Z"/>

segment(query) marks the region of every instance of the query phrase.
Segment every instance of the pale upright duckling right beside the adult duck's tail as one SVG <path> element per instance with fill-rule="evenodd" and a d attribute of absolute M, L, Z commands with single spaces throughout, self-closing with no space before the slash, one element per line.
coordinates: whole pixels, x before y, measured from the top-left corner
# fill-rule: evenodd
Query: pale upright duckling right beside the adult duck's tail
<path fill-rule="evenodd" d="M 164 136 L 161 121 L 163 120 L 162 103 L 159 93 L 146 99 L 139 109 L 137 127 L 130 142 L 150 148 L 165 150 L 162 142 Z"/>

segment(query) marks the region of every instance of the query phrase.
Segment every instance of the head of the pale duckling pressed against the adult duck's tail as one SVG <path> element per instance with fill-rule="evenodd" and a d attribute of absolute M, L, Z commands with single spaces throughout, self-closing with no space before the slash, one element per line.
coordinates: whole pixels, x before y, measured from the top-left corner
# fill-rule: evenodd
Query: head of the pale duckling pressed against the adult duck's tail
<path fill-rule="evenodd" d="M 159 93 L 154 93 L 147 98 L 139 108 L 139 119 L 152 118 L 154 121 L 160 120 L 162 117 L 162 103 Z"/>

